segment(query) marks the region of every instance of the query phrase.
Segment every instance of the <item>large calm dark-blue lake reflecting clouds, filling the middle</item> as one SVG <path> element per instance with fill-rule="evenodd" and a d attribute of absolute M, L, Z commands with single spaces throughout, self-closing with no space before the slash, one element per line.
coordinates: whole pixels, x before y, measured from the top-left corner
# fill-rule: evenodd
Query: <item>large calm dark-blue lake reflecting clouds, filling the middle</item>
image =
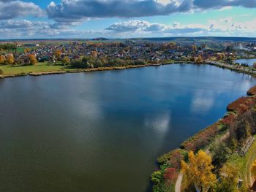
<path fill-rule="evenodd" d="M 0 191 L 146 191 L 157 156 L 255 84 L 180 64 L 0 80 Z"/>

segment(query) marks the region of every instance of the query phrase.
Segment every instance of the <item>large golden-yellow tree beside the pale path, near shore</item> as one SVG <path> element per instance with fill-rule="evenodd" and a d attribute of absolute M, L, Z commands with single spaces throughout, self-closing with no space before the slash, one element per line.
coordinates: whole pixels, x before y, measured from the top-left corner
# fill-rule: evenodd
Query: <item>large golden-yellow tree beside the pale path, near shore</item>
<path fill-rule="evenodd" d="M 187 178 L 188 185 L 194 185 L 200 191 L 208 191 L 216 183 L 216 175 L 211 171 L 214 166 L 211 164 L 211 156 L 203 150 L 197 155 L 189 151 L 189 162 L 181 161 L 181 171 Z"/>

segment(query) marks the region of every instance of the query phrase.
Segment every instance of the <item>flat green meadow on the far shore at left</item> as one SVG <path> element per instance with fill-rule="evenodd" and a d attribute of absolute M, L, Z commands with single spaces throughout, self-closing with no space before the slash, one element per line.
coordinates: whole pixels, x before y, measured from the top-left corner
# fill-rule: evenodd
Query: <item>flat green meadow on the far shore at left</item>
<path fill-rule="evenodd" d="M 0 66 L 4 70 L 4 74 L 20 74 L 29 72 L 56 72 L 64 71 L 64 66 L 59 64 L 48 64 L 48 63 L 38 63 L 34 66 Z"/>

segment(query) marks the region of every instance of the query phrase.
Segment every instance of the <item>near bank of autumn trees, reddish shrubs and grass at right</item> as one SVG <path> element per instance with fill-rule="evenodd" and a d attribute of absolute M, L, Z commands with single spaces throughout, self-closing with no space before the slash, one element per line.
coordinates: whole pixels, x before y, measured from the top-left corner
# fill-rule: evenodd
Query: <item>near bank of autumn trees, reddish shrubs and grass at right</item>
<path fill-rule="evenodd" d="M 252 186 L 251 167 L 256 158 L 256 87 L 227 106 L 227 114 L 208 128 L 187 139 L 181 147 L 160 156 L 157 180 L 152 174 L 153 191 L 175 191 L 173 178 L 184 174 L 181 191 L 247 191 Z M 248 145 L 248 141 L 252 141 Z M 252 145 L 252 147 L 251 147 Z M 244 155 L 245 154 L 245 155 Z"/>

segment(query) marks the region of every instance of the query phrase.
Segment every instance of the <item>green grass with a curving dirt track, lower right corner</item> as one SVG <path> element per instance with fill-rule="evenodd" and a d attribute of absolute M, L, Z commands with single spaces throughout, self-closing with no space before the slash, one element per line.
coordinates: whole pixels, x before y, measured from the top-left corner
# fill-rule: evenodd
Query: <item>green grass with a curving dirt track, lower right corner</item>
<path fill-rule="evenodd" d="M 256 136 L 255 136 L 256 138 Z M 252 146 L 249 148 L 245 157 L 241 157 L 238 153 L 230 156 L 227 163 L 235 164 L 239 169 L 240 177 L 245 181 L 246 185 L 250 185 L 251 180 L 251 166 L 256 159 L 256 139 Z"/>

